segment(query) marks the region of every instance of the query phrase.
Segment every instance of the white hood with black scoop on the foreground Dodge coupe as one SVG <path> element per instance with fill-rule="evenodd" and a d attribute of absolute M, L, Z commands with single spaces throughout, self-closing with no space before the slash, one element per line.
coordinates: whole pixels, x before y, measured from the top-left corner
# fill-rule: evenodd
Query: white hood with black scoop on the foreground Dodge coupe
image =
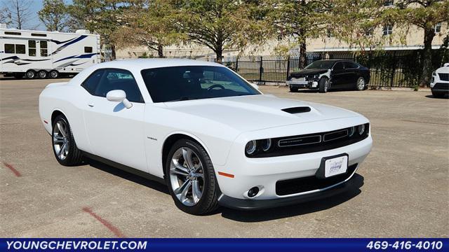
<path fill-rule="evenodd" d="M 166 102 L 166 109 L 222 123 L 241 132 L 360 116 L 335 106 L 281 99 L 269 94 Z"/>

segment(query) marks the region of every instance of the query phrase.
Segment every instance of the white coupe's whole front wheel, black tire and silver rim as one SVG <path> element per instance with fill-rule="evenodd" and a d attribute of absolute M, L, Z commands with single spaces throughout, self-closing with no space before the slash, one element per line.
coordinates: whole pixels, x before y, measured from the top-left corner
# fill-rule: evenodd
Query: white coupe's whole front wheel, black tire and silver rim
<path fill-rule="evenodd" d="M 185 157 L 191 161 L 186 162 Z M 189 139 L 176 141 L 168 153 L 164 169 L 168 190 L 177 208 L 194 215 L 207 214 L 217 208 L 215 172 L 208 153 L 200 144 Z M 197 193 L 194 193 L 194 188 Z"/>

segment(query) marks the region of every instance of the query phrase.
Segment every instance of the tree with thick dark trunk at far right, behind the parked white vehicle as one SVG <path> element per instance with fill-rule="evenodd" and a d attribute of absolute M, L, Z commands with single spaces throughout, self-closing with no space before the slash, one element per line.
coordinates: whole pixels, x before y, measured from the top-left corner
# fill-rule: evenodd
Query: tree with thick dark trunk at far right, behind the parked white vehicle
<path fill-rule="evenodd" d="M 398 25 L 404 27 L 416 26 L 423 31 L 424 48 L 422 50 L 422 74 L 420 87 L 429 85 L 432 69 L 432 41 L 435 37 L 435 26 L 438 23 L 449 22 L 449 1 L 438 0 L 399 0 L 395 1 L 393 15 Z"/>

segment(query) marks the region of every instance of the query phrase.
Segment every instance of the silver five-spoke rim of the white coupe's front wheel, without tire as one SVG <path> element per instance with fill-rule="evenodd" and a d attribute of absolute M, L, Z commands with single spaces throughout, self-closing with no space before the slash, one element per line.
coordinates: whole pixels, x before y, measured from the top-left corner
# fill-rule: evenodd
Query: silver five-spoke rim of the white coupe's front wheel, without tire
<path fill-rule="evenodd" d="M 198 204 L 203 195 L 204 171 L 191 148 L 178 148 L 170 162 L 170 182 L 177 200 L 187 207 Z"/>

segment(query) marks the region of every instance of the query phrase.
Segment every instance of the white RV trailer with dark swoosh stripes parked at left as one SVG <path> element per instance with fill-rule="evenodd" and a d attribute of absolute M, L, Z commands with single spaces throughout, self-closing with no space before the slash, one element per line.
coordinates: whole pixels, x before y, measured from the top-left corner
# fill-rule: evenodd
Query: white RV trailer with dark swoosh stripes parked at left
<path fill-rule="evenodd" d="M 0 73 L 16 78 L 58 78 L 100 63 L 100 35 L 7 29 L 0 25 Z"/>

